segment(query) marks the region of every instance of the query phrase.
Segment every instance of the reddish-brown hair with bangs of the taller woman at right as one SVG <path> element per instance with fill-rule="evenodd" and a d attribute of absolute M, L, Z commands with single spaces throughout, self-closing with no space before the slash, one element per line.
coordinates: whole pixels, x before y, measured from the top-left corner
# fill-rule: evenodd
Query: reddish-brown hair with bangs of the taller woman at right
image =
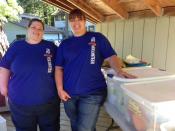
<path fill-rule="evenodd" d="M 86 20 L 85 14 L 80 9 L 74 9 L 69 14 L 69 20 L 75 19 L 76 17 Z"/>

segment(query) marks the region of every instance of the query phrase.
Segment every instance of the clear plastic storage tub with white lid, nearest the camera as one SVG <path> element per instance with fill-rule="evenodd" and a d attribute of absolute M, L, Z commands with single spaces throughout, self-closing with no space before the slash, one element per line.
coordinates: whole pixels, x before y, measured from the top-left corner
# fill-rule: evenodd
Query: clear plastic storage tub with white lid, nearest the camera
<path fill-rule="evenodd" d="M 124 105 L 137 131 L 175 131 L 175 79 L 124 84 Z"/>

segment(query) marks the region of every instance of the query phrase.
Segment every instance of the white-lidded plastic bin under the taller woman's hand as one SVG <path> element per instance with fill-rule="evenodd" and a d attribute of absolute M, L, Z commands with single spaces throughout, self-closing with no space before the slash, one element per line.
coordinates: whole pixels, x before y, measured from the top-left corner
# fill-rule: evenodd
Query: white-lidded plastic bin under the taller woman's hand
<path fill-rule="evenodd" d="M 136 79 L 126 79 L 118 77 L 114 70 L 110 69 L 106 71 L 108 74 L 107 77 L 107 86 L 108 86 L 108 98 L 107 101 L 111 104 L 116 105 L 118 108 L 123 110 L 123 90 L 121 89 L 121 85 L 125 83 L 133 83 L 133 82 L 141 82 L 141 81 L 153 81 L 157 79 L 168 79 L 168 78 L 175 78 L 175 74 L 161 71 L 157 68 L 150 68 L 150 67 L 137 67 L 137 68 L 125 68 L 124 71 L 135 75 Z M 113 77 L 110 77 L 112 76 Z"/>

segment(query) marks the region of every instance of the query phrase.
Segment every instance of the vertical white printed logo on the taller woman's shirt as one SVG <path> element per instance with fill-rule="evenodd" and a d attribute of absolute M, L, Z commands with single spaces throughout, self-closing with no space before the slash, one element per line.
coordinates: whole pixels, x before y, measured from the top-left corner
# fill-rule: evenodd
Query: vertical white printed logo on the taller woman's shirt
<path fill-rule="evenodd" d="M 96 48 L 95 37 L 91 38 L 91 42 L 89 43 L 89 45 L 91 46 L 90 64 L 95 64 L 95 48 Z"/>

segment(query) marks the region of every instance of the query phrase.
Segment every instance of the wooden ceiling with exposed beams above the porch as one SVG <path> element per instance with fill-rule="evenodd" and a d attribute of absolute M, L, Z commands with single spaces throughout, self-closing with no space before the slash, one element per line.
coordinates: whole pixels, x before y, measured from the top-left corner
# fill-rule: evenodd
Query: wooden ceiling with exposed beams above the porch
<path fill-rule="evenodd" d="M 175 15 L 175 0 L 43 0 L 66 12 L 81 9 L 94 22 Z"/>

